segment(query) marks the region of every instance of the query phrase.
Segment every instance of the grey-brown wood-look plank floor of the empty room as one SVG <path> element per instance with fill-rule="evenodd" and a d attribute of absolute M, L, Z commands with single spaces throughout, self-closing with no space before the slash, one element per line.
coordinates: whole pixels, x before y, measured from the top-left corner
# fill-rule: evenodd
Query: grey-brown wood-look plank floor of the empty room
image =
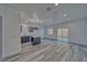
<path fill-rule="evenodd" d="M 75 44 L 26 45 L 21 53 L 8 62 L 87 62 L 87 47 Z"/>

